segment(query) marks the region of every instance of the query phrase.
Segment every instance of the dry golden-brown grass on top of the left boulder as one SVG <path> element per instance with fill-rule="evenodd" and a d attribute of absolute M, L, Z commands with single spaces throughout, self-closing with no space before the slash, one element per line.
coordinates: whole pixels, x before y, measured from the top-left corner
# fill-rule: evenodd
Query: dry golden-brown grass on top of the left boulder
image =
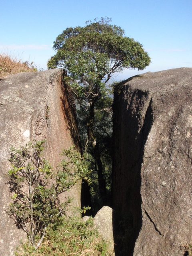
<path fill-rule="evenodd" d="M 6 77 L 9 74 L 35 71 L 37 69 L 33 66 L 33 63 L 30 64 L 28 61 L 22 62 L 7 54 L 0 54 L 0 78 Z"/>

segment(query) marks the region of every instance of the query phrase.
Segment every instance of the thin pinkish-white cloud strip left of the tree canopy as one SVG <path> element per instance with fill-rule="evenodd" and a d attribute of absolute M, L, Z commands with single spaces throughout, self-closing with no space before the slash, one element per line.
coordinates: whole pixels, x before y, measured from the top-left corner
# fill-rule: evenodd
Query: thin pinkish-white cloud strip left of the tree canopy
<path fill-rule="evenodd" d="M 51 46 L 48 44 L 7 44 L 0 45 L 2 50 L 50 50 Z"/>

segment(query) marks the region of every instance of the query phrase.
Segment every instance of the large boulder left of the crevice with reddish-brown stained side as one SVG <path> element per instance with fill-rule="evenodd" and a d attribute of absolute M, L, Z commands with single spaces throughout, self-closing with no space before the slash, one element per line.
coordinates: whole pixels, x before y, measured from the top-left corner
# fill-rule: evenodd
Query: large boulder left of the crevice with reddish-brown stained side
<path fill-rule="evenodd" d="M 63 70 L 12 75 L 0 82 L 0 255 L 10 256 L 23 232 L 5 212 L 10 202 L 6 182 L 9 150 L 29 140 L 46 139 L 45 158 L 56 167 L 63 148 L 78 146 L 78 129 Z M 69 194 L 80 206 L 80 186 Z M 63 195 L 65 197 L 66 195 Z M 64 198 L 63 198 L 64 199 Z"/>

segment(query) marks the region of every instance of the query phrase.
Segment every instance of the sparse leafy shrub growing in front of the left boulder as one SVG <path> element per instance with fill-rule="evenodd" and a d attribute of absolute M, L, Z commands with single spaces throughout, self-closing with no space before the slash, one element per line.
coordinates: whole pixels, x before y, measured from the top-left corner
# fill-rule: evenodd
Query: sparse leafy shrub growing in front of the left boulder
<path fill-rule="evenodd" d="M 8 171 L 10 191 L 14 192 L 8 214 L 18 228 L 28 235 L 29 241 L 38 248 L 50 224 L 59 222 L 70 200 L 60 203 L 59 195 L 84 178 L 90 179 L 80 152 L 73 148 L 63 150 L 65 157 L 57 170 L 41 157 L 44 141 L 29 142 L 20 149 L 11 148 Z M 36 236 L 40 239 L 36 243 Z"/>

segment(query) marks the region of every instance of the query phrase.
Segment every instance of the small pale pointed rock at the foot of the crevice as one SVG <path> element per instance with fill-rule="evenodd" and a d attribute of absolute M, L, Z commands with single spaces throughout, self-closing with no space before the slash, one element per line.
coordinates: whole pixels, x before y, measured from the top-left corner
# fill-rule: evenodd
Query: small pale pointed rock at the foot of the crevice
<path fill-rule="evenodd" d="M 109 251 L 114 250 L 113 225 L 112 225 L 112 208 L 103 206 L 93 219 L 93 223 L 98 232 L 108 243 Z"/>

